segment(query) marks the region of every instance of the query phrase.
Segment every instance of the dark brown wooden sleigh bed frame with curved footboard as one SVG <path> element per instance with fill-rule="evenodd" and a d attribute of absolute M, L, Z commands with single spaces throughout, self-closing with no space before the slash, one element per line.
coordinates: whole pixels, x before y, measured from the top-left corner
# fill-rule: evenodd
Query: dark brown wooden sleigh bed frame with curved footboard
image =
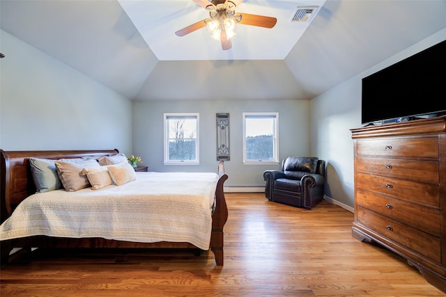
<path fill-rule="evenodd" d="M 52 151 L 3 151 L 0 150 L 0 223 L 3 223 L 22 200 L 36 193 L 36 186 L 31 175 L 29 158 L 62 159 L 85 156 L 113 156 L 118 150 L 52 150 Z M 228 209 L 224 198 L 223 184 L 228 178 L 224 172 L 224 163 L 218 166 L 219 179 L 215 188 L 215 210 L 212 216 L 210 250 L 215 255 L 217 266 L 223 265 L 223 227 L 228 218 Z M 0 241 L 1 264 L 8 262 L 13 248 L 180 248 L 200 251 L 187 242 L 160 241 L 139 243 L 95 238 L 62 238 L 52 236 L 30 236 L 21 239 Z"/>

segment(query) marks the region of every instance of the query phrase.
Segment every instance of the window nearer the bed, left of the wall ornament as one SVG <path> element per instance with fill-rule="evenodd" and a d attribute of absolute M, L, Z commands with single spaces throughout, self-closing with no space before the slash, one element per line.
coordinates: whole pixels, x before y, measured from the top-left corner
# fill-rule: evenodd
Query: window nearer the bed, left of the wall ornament
<path fill-rule="evenodd" d="M 164 163 L 199 163 L 199 114 L 164 113 Z"/>

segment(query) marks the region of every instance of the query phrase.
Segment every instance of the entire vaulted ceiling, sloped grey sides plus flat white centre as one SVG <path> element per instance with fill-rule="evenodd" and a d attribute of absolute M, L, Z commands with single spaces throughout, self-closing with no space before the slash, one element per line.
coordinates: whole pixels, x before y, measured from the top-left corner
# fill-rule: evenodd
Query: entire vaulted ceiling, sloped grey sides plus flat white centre
<path fill-rule="evenodd" d="M 316 10 L 290 22 L 301 6 Z M 312 99 L 446 28 L 440 0 L 244 0 L 236 12 L 277 24 L 237 24 L 227 51 L 206 28 L 174 34 L 209 17 L 192 0 L 1 0 L 0 25 L 135 100 Z"/>

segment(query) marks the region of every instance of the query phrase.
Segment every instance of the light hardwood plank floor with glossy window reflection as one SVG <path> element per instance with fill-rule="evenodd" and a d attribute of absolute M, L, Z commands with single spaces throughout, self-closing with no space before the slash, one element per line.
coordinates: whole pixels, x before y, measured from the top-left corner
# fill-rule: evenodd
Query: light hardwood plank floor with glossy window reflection
<path fill-rule="evenodd" d="M 353 239 L 353 214 L 226 193 L 224 266 L 213 253 L 34 251 L 1 267 L 0 296 L 446 296 L 401 257 Z"/>

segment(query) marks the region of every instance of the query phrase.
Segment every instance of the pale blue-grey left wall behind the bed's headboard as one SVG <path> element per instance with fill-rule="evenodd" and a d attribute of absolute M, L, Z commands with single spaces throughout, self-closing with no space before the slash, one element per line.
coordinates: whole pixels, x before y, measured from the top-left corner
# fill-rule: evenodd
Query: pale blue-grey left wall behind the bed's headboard
<path fill-rule="evenodd" d="M 132 102 L 0 31 L 3 150 L 132 151 Z"/>

